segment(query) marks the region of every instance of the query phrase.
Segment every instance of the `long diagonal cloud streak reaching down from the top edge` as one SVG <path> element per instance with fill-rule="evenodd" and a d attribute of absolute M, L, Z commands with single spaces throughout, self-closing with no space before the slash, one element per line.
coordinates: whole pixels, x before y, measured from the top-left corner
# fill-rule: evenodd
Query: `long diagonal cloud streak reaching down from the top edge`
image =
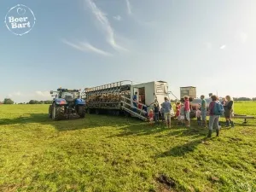
<path fill-rule="evenodd" d="M 108 44 L 110 44 L 113 47 L 113 49 L 127 51 L 127 49 L 125 49 L 124 47 L 122 47 L 116 43 L 116 41 L 114 39 L 113 28 L 110 25 L 106 15 L 102 12 L 102 10 L 99 9 L 96 6 L 96 3 L 93 3 L 91 0 L 86 0 L 86 2 L 88 4 L 88 6 L 90 7 L 90 10 L 93 13 L 93 15 L 95 15 L 96 20 L 98 20 L 101 23 L 102 29 L 106 32 Z"/>

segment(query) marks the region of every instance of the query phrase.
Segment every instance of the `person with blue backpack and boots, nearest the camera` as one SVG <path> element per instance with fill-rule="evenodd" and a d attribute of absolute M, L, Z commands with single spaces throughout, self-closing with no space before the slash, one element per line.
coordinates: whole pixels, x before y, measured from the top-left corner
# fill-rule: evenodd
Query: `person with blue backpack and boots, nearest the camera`
<path fill-rule="evenodd" d="M 211 96 L 212 98 L 212 102 L 210 102 L 209 104 L 209 132 L 208 132 L 208 136 L 207 137 L 212 137 L 212 128 L 213 126 L 216 129 L 216 133 L 217 133 L 217 137 L 219 134 L 219 126 L 218 126 L 218 119 L 219 119 L 219 115 L 214 113 L 214 107 L 218 102 L 218 97 L 217 96 Z M 220 104 L 220 103 L 219 103 Z"/>

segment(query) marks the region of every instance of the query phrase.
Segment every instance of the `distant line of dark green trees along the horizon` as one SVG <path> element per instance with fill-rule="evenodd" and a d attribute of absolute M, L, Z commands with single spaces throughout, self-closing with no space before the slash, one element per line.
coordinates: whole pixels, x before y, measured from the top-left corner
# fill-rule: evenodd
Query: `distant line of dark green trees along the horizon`
<path fill-rule="evenodd" d="M 235 102 L 255 102 L 256 101 L 256 97 L 253 97 L 253 98 L 249 98 L 249 97 L 233 97 L 233 100 Z M 176 102 L 177 100 L 171 100 L 171 102 Z M 9 98 L 5 98 L 3 100 L 3 102 L 0 102 L 0 104 L 51 104 L 52 101 L 51 100 L 48 100 L 48 101 L 37 101 L 37 100 L 30 100 L 29 102 L 19 102 L 19 103 L 16 103 L 14 102 L 13 100 L 9 99 Z"/>

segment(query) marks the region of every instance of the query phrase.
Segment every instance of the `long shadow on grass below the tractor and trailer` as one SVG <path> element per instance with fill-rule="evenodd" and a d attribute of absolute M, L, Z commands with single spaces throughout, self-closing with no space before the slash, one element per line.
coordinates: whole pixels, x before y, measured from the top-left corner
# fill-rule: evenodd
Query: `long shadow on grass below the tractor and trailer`
<path fill-rule="evenodd" d="M 52 125 L 58 131 L 71 131 L 79 129 L 99 127 L 121 127 L 127 125 L 141 124 L 137 119 L 126 119 L 122 117 L 109 118 L 107 115 L 85 115 L 84 119 L 73 118 L 54 121 L 49 119 L 47 113 L 24 113 L 15 119 L 0 119 L 0 125 L 26 125 L 26 124 Z"/>

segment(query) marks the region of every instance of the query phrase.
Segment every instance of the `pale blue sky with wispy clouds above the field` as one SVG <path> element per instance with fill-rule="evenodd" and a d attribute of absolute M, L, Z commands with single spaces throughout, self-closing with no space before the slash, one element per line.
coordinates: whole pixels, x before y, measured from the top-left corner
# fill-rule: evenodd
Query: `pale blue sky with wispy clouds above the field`
<path fill-rule="evenodd" d="M 16 36 L 16 4 L 36 16 Z M 0 2 L 0 101 L 49 99 L 58 87 L 130 79 L 192 85 L 197 94 L 256 96 L 256 1 L 44 0 Z"/>

